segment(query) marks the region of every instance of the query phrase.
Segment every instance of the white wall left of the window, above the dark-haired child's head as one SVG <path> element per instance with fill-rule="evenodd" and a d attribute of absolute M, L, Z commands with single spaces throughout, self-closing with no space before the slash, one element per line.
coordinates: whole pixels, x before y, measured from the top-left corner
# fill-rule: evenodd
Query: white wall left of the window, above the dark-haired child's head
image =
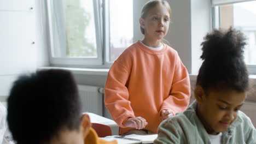
<path fill-rule="evenodd" d="M 0 101 L 20 74 L 49 65 L 42 11 L 36 8 L 34 0 L 0 1 Z"/>

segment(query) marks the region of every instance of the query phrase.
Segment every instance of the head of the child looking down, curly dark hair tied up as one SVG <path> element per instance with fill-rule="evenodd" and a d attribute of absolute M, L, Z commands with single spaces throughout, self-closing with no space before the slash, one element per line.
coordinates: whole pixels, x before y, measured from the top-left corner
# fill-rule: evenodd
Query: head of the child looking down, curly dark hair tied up
<path fill-rule="evenodd" d="M 248 88 L 243 61 L 245 37 L 239 31 L 214 30 L 202 45 L 204 60 L 197 76 L 197 115 L 209 134 L 225 131 L 235 121 Z"/>

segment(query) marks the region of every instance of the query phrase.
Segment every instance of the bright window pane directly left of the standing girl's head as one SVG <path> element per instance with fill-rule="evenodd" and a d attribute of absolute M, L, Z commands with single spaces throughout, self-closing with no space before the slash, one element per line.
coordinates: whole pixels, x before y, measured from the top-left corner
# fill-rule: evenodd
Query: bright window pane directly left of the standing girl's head
<path fill-rule="evenodd" d="M 132 0 L 109 0 L 110 62 L 115 61 L 132 44 L 132 4 Z"/>

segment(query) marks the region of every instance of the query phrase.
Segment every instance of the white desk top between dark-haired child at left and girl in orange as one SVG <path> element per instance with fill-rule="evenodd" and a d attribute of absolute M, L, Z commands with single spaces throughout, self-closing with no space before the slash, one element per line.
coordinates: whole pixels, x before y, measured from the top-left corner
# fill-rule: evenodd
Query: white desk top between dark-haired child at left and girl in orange
<path fill-rule="evenodd" d="M 91 119 L 91 123 L 100 123 L 100 124 L 108 125 L 109 127 L 118 127 L 118 124 L 115 123 L 115 121 L 113 121 L 112 119 L 102 117 L 91 112 L 84 112 L 84 113 L 89 115 Z"/>

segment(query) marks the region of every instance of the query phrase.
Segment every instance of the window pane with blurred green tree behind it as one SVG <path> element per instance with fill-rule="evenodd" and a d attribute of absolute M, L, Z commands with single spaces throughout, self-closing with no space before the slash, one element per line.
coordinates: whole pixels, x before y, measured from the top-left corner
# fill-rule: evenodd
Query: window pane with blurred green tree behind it
<path fill-rule="evenodd" d="M 66 56 L 97 57 L 93 0 L 64 0 Z"/>

